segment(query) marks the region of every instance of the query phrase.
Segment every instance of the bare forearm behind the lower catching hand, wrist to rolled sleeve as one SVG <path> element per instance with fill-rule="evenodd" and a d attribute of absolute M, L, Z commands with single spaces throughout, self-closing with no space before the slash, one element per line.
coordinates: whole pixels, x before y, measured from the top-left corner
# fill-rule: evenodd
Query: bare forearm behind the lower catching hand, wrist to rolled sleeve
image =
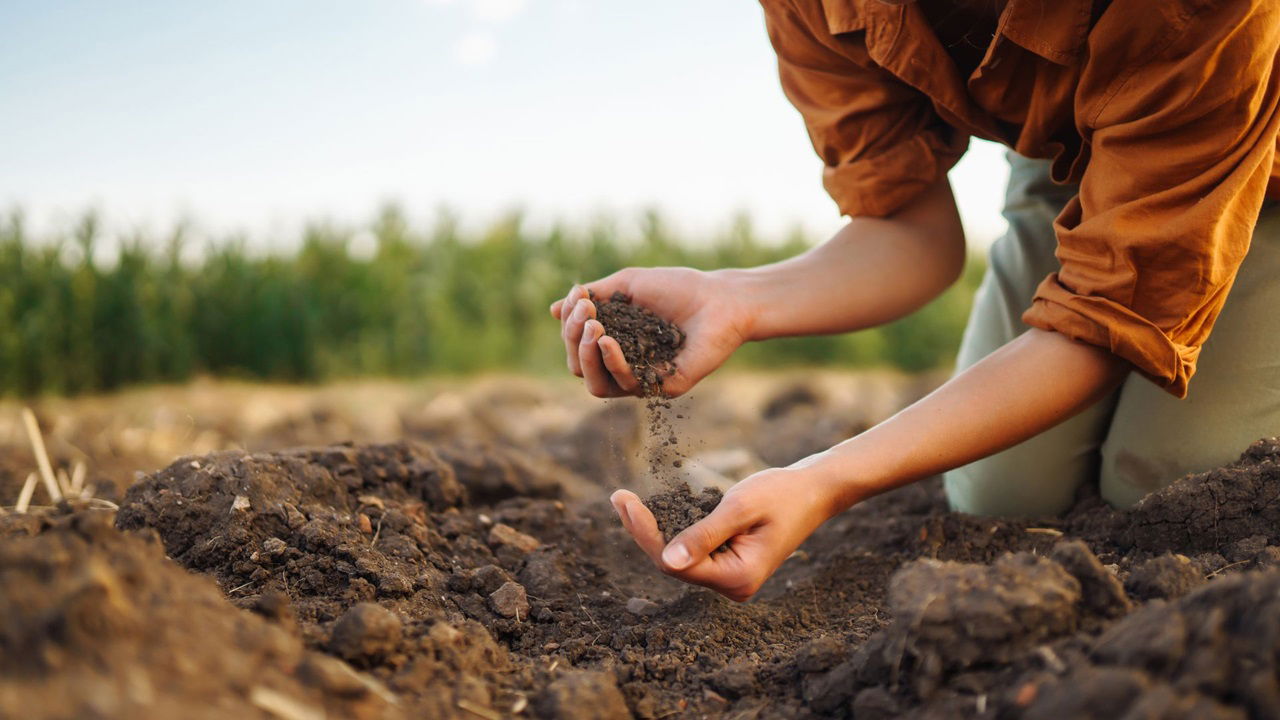
<path fill-rule="evenodd" d="M 832 512 L 1012 447 L 1112 391 L 1129 365 L 1032 329 L 879 425 L 800 464 L 828 486 Z"/>

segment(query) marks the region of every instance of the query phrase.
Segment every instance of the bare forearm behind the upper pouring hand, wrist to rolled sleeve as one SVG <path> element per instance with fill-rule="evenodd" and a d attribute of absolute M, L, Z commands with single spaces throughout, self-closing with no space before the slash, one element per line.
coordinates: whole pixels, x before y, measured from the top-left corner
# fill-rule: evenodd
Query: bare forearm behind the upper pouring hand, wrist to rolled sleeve
<path fill-rule="evenodd" d="M 856 218 L 803 255 L 727 274 L 753 305 L 751 340 L 841 333 L 916 310 L 955 282 L 964 252 L 942 179 L 892 218 Z"/>

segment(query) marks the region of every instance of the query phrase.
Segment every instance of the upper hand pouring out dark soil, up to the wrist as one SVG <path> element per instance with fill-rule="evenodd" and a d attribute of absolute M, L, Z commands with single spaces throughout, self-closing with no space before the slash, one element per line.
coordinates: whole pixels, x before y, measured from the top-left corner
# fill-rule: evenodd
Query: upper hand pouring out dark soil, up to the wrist
<path fill-rule="evenodd" d="M 596 397 L 636 395 L 640 389 L 617 341 L 604 334 L 595 319 L 595 305 L 614 292 L 631 297 L 685 332 L 685 345 L 676 355 L 675 372 L 663 380 L 666 395 L 675 397 L 719 368 L 749 338 L 754 311 L 731 275 L 691 268 L 627 268 L 589 283 L 573 286 L 564 300 L 556 301 L 552 316 L 561 322 L 568 369 L 586 380 Z"/>

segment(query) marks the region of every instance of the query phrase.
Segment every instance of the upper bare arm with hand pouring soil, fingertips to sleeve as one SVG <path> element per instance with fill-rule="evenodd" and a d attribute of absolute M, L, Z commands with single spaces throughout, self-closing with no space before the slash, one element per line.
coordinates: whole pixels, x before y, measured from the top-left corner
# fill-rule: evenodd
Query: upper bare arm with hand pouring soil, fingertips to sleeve
<path fill-rule="evenodd" d="M 964 231 L 946 178 L 891 218 L 856 218 L 823 245 L 751 269 L 627 268 L 573 286 L 550 311 L 561 322 L 570 372 L 600 397 L 634 395 L 618 343 L 595 320 L 596 297 L 614 292 L 687 333 L 667 395 L 686 392 L 744 342 L 879 325 L 920 307 L 964 268 Z"/>

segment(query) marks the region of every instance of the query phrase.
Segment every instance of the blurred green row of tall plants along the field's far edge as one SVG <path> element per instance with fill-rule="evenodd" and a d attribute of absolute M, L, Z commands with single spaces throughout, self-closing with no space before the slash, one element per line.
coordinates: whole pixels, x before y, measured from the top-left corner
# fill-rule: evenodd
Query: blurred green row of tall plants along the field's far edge
<path fill-rule="evenodd" d="M 97 252 L 86 215 L 65 237 L 29 237 L 0 219 L 0 395 L 82 393 L 196 374 L 316 382 L 479 370 L 554 372 L 563 347 L 548 304 L 572 282 L 627 265 L 749 266 L 810 247 L 765 242 L 745 218 L 719 237 L 673 237 L 658 214 L 637 232 L 616 222 L 530 232 L 512 215 L 466 233 L 444 215 L 415 229 L 389 208 L 357 232 L 314 225 L 287 252 L 243 238 L 186 252 L 182 228 L 119 238 Z M 197 259 L 192 260 L 195 255 Z M 952 360 L 982 274 L 896 324 L 854 334 L 753 343 L 739 366 L 890 365 Z"/>

